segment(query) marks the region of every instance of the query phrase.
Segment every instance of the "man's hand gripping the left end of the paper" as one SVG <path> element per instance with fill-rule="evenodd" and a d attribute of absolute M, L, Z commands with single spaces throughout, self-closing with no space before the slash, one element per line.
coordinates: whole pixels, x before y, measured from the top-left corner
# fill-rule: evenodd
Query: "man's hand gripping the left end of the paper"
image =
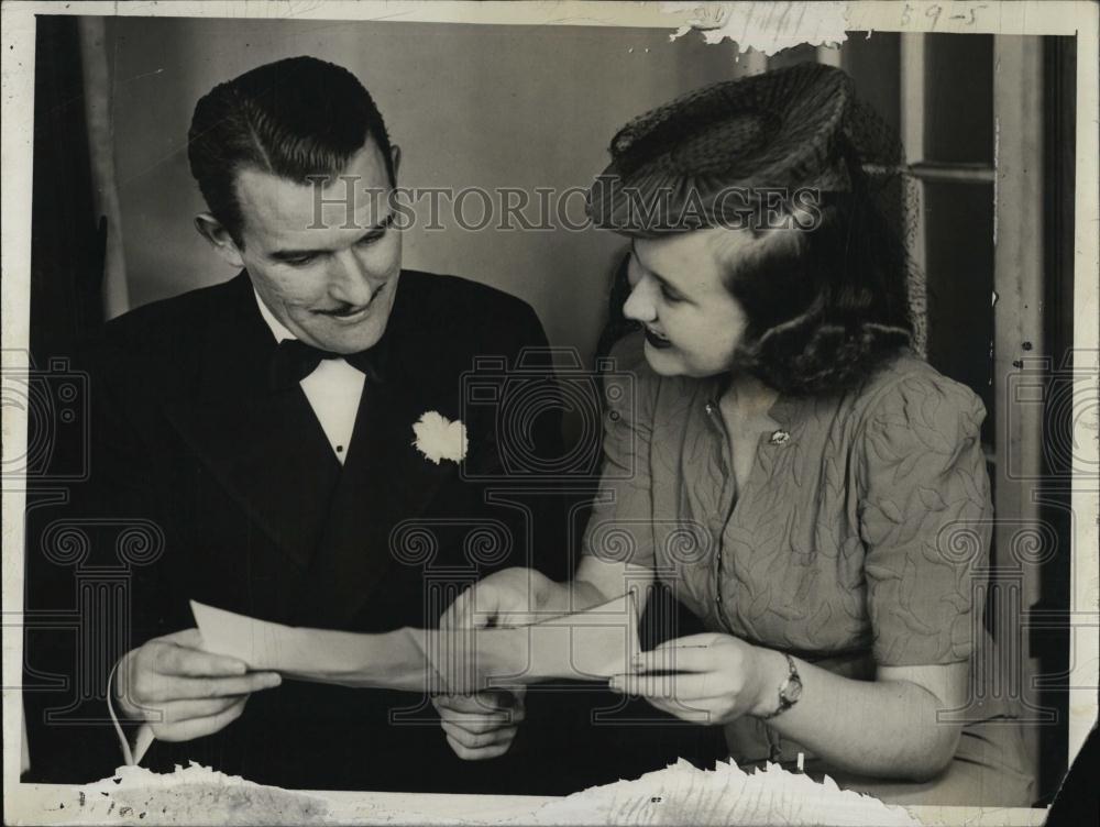
<path fill-rule="evenodd" d="M 114 699 L 128 718 L 148 721 L 163 741 L 212 735 L 240 717 L 249 695 L 278 686 L 277 672 L 201 651 L 198 629 L 154 638 L 119 661 Z"/>

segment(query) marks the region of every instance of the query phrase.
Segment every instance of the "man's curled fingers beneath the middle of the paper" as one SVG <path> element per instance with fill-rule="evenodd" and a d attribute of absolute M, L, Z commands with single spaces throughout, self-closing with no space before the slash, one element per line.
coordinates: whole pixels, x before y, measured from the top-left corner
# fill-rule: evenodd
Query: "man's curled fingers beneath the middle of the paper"
<path fill-rule="evenodd" d="M 437 695 L 431 699 L 442 719 L 447 742 L 464 761 L 503 756 L 524 719 L 524 690 L 490 690 L 476 695 Z"/>

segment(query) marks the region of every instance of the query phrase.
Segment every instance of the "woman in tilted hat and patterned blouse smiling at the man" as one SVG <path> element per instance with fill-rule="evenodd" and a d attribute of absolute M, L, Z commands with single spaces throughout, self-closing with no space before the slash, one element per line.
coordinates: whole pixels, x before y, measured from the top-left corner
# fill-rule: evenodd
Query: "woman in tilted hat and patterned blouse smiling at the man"
<path fill-rule="evenodd" d="M 985 410 L 909 350 L 868 123 L 846 75 L 804 65 L 616 135 L 591 208 L 632 236 L 624 312 L 642 331 L 616 350 L 636 388 L 608 400 L 607 496 L 572 582 L 507 570 L 448 622 L 474 598 L 515 622 L 660 578 L 712 631 L 613 691 L 724 726 L 743 765 L 801 754 L 886 801 L 1027 806 L 1019 728 L 971 666 L 991 651 Z"/>

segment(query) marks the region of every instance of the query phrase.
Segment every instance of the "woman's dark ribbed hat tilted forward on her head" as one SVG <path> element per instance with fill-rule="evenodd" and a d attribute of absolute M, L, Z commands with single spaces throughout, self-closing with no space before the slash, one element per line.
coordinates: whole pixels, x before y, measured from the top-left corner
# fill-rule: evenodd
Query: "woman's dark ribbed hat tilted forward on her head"
<path fill-rule="evenodd" d="M 610 165 L 588 190 L 588 216 L 653 235 L 730 225 L 728 213 L 745 203 L 723 198 L 732 189 L 845 191 L 855 107 L 851 79 L 813 63 L 689 92 L 619 130 Z"/>

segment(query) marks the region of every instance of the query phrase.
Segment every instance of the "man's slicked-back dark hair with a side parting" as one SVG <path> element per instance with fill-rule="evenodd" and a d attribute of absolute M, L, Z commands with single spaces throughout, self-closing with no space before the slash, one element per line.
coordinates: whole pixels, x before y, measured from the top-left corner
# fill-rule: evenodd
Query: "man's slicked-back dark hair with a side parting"
<path fill-rule="evenodd" d="M 195 106 L 187 157 L 207 207 L 242 244 L 237 175 L 245 167 L 298 184 L 338 176 L 369 137 L 396 186 L 389 135 L 371 93 L 348 69 L 288 57 L 219 84 Z"/>

